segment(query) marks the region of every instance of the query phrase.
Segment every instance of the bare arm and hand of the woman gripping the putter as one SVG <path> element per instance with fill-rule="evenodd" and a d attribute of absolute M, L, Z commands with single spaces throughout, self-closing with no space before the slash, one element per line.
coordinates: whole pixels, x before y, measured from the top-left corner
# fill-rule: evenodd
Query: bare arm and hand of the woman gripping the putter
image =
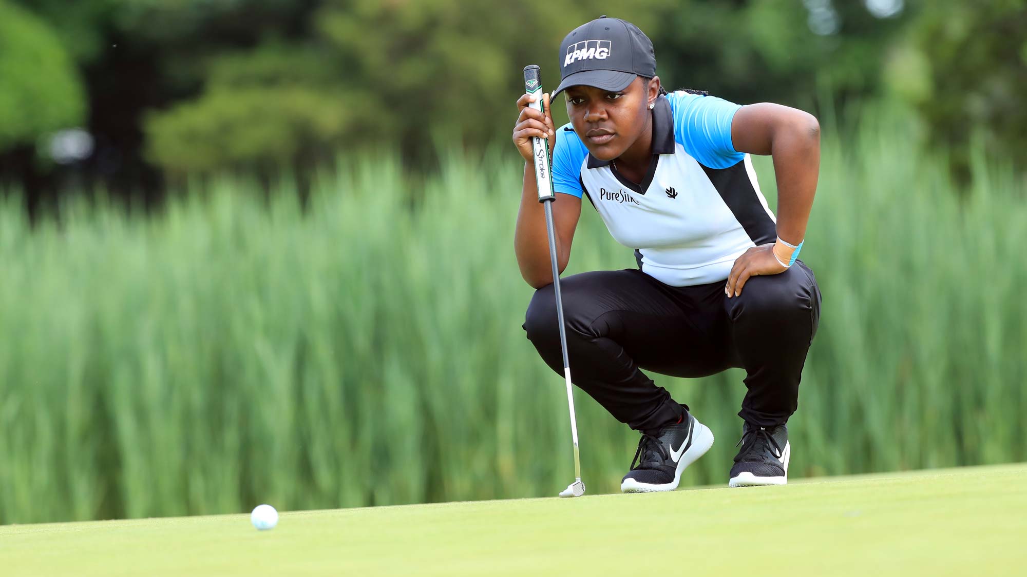
<path fill-rule="evenodd" d="M 517 102 L 521 113 L 514 127 L 514 144 L 525 159 L 524 186 L 521 190 L 517 230 L 514 233 L 514 249 L 517 253 L 521 276 L 534 288 L 553 283 L 549 241 L 545 230 L 545 208 L 538 201 L 535 167 L 532 164 L 534 155 L 531 148 L 532 138 L 548 138 L 549 157 L 553 157 L 553 148 L 557 140 L 556 127 L 549 114 L 549 95 L 544 94 L 542 99 L 545 108 L 544 117 L 541 112 L 528 106 L 534 101 L 534 97 L 522 95 Z M 570 260 L 574 229 L 581 216 L 581 199 L 571 194 L 557 194 L 556 198 L 553 201 L 553 227 L 557 235 L 557 264 L 560 272 L 563 272 Z"/>

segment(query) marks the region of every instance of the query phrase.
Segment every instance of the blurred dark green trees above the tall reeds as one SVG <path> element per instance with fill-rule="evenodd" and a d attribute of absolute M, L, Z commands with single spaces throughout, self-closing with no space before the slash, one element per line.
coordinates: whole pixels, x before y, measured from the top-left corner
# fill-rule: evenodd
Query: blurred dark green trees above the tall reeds
<path fill-rule="evenodd" d="M 1023 154 L 1021 0 L 0 0 L 0 179 L 35 208 L 98 186 L 149 204 L 188 175 L 302 179 L 375 144 L 430 167 L 433 139 L 508 138 L 523 66 L 555 85 L 563 36 L 604 12 L 652 38 L 669 88 L 822 116 L 887 99 L 957 167 L 975 133 Z"/>

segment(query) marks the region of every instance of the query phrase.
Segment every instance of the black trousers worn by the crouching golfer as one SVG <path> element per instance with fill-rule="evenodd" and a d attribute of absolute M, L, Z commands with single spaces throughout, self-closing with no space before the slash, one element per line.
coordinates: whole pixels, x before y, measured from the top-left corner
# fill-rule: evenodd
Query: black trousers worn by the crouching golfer
<path fill-rule="evenodd" d="M 642 370 L 705 377 L 747 372 L 738 416 L 757 426 L 784 424 L 795 413 L 806 351 L 820 322 L 821 292 L 802 261 L 785 272 L 751 277 L 741 295 L 726 280 L 663 284 L 637 269 L 594 271 L 561 279 L 571 379 L 611 415 L 655 434 L 684 408 Z M 550 369 L 563 376 L 553 285 L 535 292 L 524 329 Z"/>

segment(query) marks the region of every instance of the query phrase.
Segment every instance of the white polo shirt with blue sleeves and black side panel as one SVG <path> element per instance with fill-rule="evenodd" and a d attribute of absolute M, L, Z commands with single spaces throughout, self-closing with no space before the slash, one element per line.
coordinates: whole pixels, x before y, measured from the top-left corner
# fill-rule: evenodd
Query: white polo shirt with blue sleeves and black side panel
<path fill-rule="evenodd" d="M 735 259 L 777 234 L 751 158 L 731 143 L 739 108 L 682 90 L 657 97 L 652 161 L 641 186 L 592 156 L 567 123 L 557 130 L 553 188 L 586 195 L 613 238 L 635 248 L 639 268 L 659 281 L 724 280 Z"/>

